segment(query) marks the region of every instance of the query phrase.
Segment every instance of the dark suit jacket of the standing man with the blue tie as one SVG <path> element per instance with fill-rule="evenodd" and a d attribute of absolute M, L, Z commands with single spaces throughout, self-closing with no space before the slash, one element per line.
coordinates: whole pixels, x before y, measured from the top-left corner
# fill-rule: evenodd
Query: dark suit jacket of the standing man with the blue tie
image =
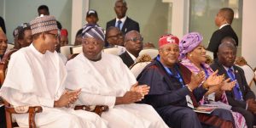
<path fill-rule="evenodd" d="M 112 20 L 108 21 L 106 30 L 110 26 L 115 26 L 115 22 L 116 22 L 116 19 L 112 19 Z M 138 31 L 138 32 L 140 32 L 140 26 L 137 23 L 137 21 L 134 21 L 134 20 L 130 19 L 129 17 L 127 17 L 125 19 L 125 23 L 124 23 L 121 31 L 124 34 L 126 34 L 128 31 Z"/>

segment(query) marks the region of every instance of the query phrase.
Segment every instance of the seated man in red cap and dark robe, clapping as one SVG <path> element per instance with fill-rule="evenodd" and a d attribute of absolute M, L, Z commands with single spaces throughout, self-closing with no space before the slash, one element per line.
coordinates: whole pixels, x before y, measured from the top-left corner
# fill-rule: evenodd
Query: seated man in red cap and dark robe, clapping
<path fill-rule="evenodd" d="M 170 127 L 232 127 L 232 122 L 221 120 L 218 116 L 196 114 L 193 111 L 194 107 L 198 107 L 197 102 L 207 92 L 208 83 L 212 81 L 205 81 L 205 86 L 198 87 L 205 75 L 203 72 L 194 75 L 182 64 L 177 63 L 178 43 L 177 36 L 160 37 L 159 55 L 137 77 L 139 84 L 150 86 L 142 103 L 151 104 Z M 222 112 L 226 115 L 225 111 Z"/>

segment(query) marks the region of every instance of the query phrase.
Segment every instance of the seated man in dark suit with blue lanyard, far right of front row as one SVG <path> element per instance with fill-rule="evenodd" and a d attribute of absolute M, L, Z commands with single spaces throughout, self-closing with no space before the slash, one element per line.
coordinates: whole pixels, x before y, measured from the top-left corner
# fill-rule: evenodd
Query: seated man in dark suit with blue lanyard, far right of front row
<path fill-rule="evenodd" d="M 219 75 L 225 75 L 232 81 L 236 81 L 236 86 L 232 91 L 227 91 L 226 95 L 232 111 L 243 115 L 248 128 L 253 128 L 256 120 L 255 95 L 247 85 L 244 71 L 234 64 L 236 59 L 236 47 L 234 42 L 222 42 L 218 47 L 218 60 L 211 65 L 212 70 L 218 70 Z"/>

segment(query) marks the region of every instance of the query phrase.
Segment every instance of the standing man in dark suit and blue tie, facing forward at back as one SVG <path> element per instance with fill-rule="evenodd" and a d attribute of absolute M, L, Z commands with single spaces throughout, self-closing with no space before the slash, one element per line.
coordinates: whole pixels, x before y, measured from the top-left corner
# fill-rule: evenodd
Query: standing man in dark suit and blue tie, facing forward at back
<path fill-rule="evenodd" d="M 126 34 L 128 31 L 140 31 L 139 24 L 127 17 L 127 3 L 125 0 L 117 0 L 114 4 L 114 11 L 116 14 L 116 18 L 108 21 L 107 28 L 110 26 L 118 27 L 123 34 Z"/>

